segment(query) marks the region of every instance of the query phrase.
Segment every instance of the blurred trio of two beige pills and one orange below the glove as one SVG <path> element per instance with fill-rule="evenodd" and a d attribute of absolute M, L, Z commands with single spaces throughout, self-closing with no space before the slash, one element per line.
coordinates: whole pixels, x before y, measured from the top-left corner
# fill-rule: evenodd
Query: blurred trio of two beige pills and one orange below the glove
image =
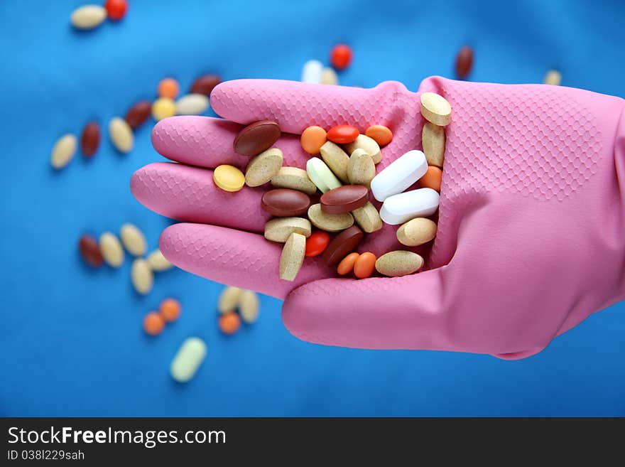
<path fill-rule="evenodd" d="M 234 334 L 239 331 L 241 320 L 251 324 L 259 318 L 259 296 L 251 290 L 227 286 L 219 295 L 217 311 L 219 330 L 224 334 Z"/>

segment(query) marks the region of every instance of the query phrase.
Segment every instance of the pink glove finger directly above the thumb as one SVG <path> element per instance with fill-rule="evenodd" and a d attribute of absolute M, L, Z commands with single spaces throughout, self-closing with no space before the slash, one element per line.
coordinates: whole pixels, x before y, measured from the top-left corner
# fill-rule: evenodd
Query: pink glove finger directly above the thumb
<path fill-rule="evenodd" d="M 159 243 L 165 258 L 185 271 L 278 299 L 297 286 L 330 275 L 320 257 L 306 258 L 295 281 L 283 281 L 278 278 L 281 243 L 216 225 L 170 225 Z"/>

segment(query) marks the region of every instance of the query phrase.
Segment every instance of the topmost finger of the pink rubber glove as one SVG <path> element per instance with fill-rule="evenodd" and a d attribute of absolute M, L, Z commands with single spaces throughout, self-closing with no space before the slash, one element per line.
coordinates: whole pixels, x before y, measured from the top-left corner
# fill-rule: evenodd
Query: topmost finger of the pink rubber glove
<path fill-rule="evenodd" d="M 233 80 L 212 90 L 210 103 L 217 114 L 249 124 L 271 119 L 282 131 L 301 134 L 310 125 L 325 128 L 353 124 L 364 130 L 372 124 L 393 124 L 416 109 L 418 95 L 400 82 L 362 87 L 314 85 L 283 80 Z"/>

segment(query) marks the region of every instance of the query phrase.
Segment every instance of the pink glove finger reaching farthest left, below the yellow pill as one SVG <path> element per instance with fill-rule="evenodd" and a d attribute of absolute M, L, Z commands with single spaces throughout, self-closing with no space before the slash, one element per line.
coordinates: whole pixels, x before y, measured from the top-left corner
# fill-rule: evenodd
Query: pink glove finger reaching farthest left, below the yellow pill
<path fill-rule="evenodd" d="M 155 213 L 185 222 L 263 232 L 271 217 L 261 209 L 261 188 L 244 186 L 229 193 L 215 186 L 212 171 L 156 162 L 140 168 L 130 181 L 139 203 Z"/>

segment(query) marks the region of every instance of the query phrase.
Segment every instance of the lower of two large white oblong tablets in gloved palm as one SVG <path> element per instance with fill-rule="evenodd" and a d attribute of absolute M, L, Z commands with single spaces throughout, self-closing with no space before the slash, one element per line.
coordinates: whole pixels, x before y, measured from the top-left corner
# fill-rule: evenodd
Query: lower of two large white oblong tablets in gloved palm
<path fill-rule="evenodd" d="M 380 217 L 391 225 L 403 224 L 414 218 L 427 218 L 438 209 L 439 195 L 432 188 L 419 188 L 389 196 L 380 209 Z"/>

